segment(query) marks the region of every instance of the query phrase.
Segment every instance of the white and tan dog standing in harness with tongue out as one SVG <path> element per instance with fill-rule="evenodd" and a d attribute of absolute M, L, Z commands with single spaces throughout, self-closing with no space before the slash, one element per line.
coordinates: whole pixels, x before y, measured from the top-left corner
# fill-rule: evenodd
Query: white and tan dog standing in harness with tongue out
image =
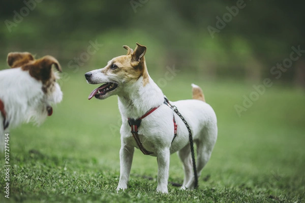
<path fill-rule="evenodd" d="M 111 59 L 103 69 L 85 74 L 89 84 L 105 83 L 93 90 L 89 99 L 105 99 L 118 95 L 118 107 L 121 114 L 120 128 L 120 177 L 117 190 L 125 190 L 130 175 L 134 148 L 147 151 L 158 161 L 157 191 L 167 193 L 170 154 L 178 151 L 184 164 L 185 178 L 181 189 L 194 188 L 189 132 L 182 120 L 164 105 L 164 95 L 147 73 L 144 54 L 146 47 L 137 43 L 133 51 L 128 46 L 127 55 Z M 197 145 L 198 177 L 210 158 L 217 140 L 217 119 L 214 110 L 204 102 L 200 87 L 193 85 L 193 98 L 172 102 L 189 123 Z M 146 114 L 150 110 L 149 114 Z M 154 112 L 151 112 L 154 111 Z M 146 114 L 146 115 L 145 115 Z M 131 133 L 130 119 L 145 118 L 138 127 L 138 139 Z M 174 120 L 177 124 L 177 136 L 174 138 Z M 142 148 L 142 149 L 141 149 Z M 143 149 L 144 148 L 144 149 Z M 143 152 L 144 153 L 144 152 Z"/>

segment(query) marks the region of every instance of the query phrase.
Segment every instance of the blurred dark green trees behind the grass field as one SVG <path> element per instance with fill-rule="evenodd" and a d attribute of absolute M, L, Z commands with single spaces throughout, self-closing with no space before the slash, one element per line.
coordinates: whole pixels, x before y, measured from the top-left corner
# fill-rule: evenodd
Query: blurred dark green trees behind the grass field
<path fill-rule="evenodd" d="M 305 49 L 302 5 L 255 0 L 1 1 L 1 59 L 10 51 L 50 54 L 66 72 L 84 73 L 125 54 L 121 46 L 134 48 L 139 42 L 148 48 L 150 72 L 175 65 L 203 79 L 259 82 L 272 77 L 271 67 L 289 58 L 292 46 Z M 81 55 L 92 43 L 100 46 L 97 54 Z M 304 57 L 277 81 L 305 86 Z"/>

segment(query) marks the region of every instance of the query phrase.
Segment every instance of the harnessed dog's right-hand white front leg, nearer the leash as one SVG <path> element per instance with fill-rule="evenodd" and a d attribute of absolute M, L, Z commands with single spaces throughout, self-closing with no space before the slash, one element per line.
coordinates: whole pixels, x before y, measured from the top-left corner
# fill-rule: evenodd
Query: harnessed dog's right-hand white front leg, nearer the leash
<path fill-rule="evenodd" d="M 157 192 L 168 193 L 168 173 L 169 173 L 169 148 L 159 150 L 157 153 L 158 161 L 158 187 Z"/>

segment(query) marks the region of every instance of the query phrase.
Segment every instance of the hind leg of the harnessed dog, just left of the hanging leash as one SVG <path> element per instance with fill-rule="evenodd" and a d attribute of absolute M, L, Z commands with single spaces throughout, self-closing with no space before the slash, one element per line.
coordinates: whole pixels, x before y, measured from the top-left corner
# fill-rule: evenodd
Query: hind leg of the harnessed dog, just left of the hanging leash
<path fill-rule="evenodd" d="M 183 163 L 183 168 L 185 172 L 185 177 L 181 189 L 187 189 L 186 185 L 192 178 L 192 173 L 193 173 L 190 144 L 186 145 L 184 148 L 179 150 L 178 156 Z"/>

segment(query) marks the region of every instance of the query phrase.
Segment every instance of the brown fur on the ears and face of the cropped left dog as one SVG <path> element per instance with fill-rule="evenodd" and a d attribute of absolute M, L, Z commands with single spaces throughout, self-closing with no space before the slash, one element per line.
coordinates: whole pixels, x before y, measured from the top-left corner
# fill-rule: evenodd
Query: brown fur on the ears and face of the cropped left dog
<path fill-rule="evenodd" d="M 33 78 L 42 81 L 44 92 L 52 89 L 56 82 L 52 65 L 55 65 L 57 71 L 62 72 L 59 62 L 53 56 L 44 56 L 35 60 L 33 55 L 28 52 L 9 53 L 8 64 L 11 67 L 21 67 L 23 71 L 28 71 Z"/>

